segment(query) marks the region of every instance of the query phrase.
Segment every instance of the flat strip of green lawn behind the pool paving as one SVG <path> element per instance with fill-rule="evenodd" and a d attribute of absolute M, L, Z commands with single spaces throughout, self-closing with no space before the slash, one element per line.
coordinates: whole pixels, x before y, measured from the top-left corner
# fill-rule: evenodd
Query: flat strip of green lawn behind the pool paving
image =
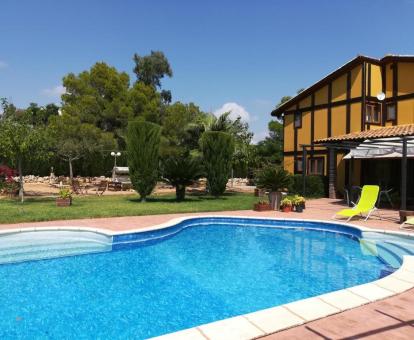
<path fill-rule="evenodd" d="M 253 194 L 242 193 L 229 193 L 220 198 L 189 195 L 180 203 L 174 195 L 154 196 L 145 203 L 139 202 L 137 195 L 75 197 L 71 207 L 56 207 L 53 198 L 28 198 L 23 204 L 0 199 L 0 223 L 243 210 L 252 209 L 257 201 Z"/>

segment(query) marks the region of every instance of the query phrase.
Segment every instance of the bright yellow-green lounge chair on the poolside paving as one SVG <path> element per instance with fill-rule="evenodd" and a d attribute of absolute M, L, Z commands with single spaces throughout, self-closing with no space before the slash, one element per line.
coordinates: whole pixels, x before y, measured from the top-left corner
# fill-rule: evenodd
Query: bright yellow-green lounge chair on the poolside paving
<path fill-rule="evenodd" d="M 369 216 L 376 210 L 375 203 L 378 199 L 379 186 L 378 185 L 364 185 L 361 192 L 361 198 L 358 203 L 351 209 L 343 209 L 338 211 L 332 218 L 335 218 L 336 215 L 348 217 L 347 222 L 354 216 L 367 214 L 365 221 Z M 379 213 L 378 213 L 379 216 Z M 379 216 L 381 218 L 381 216 Z"/>

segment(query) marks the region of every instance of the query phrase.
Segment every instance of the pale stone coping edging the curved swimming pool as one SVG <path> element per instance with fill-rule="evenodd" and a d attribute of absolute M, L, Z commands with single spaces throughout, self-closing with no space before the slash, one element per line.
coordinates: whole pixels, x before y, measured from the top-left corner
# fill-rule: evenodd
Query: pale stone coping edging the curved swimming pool
<path fill-rule="evenodd" d="M 46 230 L 71 230 L 92 231 L 107 236 L 141 233 L 172 227 L 186 220 L 197 218 L 235 218 L 235 219 L 262 219 L 273 221 L 312 221 L 323 224 L 336 224 L 352 227 L 361 232 L 376 232 L 414 238 L 413 234 L 404 231 L 389 231 L 373 229 L 352 223 L 344 223 L 333 220 L 297 219 L 297 218 L 272 218 L 253 216 L 231 215 L 192 215 L 173 218 L 165 223 L 122 231 L 114 231 L 103 228 L 90 228 L 84 226 L 44 226 L 28 228 L 10 228 L 0 230 L 1 234 L 16 232 L 46 231 Z M 272 226 L 269 225 L 271 228 Z M 288 328 L 300 326 L 304 323 L 325 318 L 349 309 L 382 300 L 403 293 L 414 288 L 414 256 L 403 256 L 403 263 L 394 273 L 369 283 L 353 286 L 330 293 L 325 293 L 311 298 L 297 300 L 276 307 L 262 309 L 256 312 L 239 315 L 192 328 L 168 333 L 152 339 L 255 339 L 276 333 Z"/>

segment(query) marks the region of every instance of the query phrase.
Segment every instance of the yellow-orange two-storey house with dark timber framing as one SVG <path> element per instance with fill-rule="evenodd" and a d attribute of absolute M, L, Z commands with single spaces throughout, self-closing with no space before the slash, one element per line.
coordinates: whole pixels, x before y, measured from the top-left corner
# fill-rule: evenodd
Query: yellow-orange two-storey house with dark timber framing
<path fill-rule="evenodd" d="M 357 56 L 276 108 L 272 116 L 283 119 L 284 168 L 297 174 L 306 164 L 307 174 L 327 176 L 330 153 L 318 147 L 319 142 L 362 142 L 366 135 L 361 133 L 374 129 L 380 129 L 377 138 L 399 136 L 401 129 L 396 127 L 414 124 L 414 56 Z M 306 163 L 302 162 L 304 145 L 309 146 Z M 333 154 L 336 193 L 349 184 L 349 178 L 353 185 L 362 185 L 380 181 L 382 176 L 387 187 L 398 185 L 392 174 L 397 172 L 398 177 L 400 163 L 355 160 L 350 167 L 343 159 L 348 152 L 344 149 Z M 414 177 L 412 172 L 410 160 L 409 178 Z M 330 192 L 330 196 L 335 194 Z"/>

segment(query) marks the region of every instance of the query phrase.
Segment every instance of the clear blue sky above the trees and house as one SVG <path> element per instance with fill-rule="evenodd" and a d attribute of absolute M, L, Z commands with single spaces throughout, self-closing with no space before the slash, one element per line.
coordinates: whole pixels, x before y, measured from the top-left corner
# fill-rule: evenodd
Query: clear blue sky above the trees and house
<path fill-rule="evenodd" d="M 281 96 L 357 54 L 414 54 L 413 13 L 414 0 L 2 0 L 0 97 L 58 103 L 68 72 L 105 61 L 134 79 L 133 54 L 161 50 L 173 100 L 237 103 L 258 140 Z"/>

